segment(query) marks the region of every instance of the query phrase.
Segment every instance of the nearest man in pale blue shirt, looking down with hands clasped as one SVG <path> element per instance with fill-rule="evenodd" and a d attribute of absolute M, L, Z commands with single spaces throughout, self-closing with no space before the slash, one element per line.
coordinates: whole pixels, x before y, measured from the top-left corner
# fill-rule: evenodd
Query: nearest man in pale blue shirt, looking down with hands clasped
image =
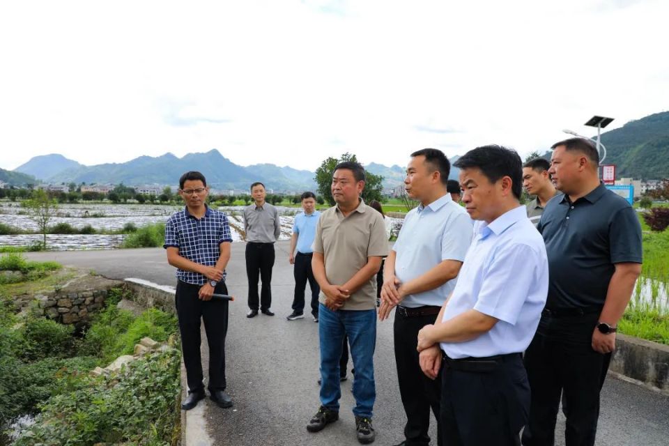
<path fill-rule="evenodd" d="M 418 333 L 420 365 L 431 378 L 443 369 L 444 444 L 519 445 L 530 410 L 521 352 L 546 303 L 546 247 L 518 201 L 515 151 L 479 147 L 454 165 L 467 212 L 481 221 L 438 322 Z"/>

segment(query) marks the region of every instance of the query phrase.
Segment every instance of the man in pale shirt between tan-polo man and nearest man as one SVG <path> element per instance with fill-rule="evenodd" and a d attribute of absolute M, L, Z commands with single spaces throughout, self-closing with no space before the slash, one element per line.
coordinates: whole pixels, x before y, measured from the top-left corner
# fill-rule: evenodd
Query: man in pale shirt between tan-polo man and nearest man
<path fill-rule="evenodd" d="M 440 380 L 420 369 L 417 336 L 433 324 L 472 238 L 472 219 L 447 192 L 450 163 L 434 148 L 411 154 L 404 185 L 420 206 L 410 210 L 385 263 L 379 320 L 397 305 L 394 351 L 397 378 L 407 422 L 402 445 L 429 445 L 430 408 L 440 417 Z M 441 429 L 437 423 L 438 443 Z"/>

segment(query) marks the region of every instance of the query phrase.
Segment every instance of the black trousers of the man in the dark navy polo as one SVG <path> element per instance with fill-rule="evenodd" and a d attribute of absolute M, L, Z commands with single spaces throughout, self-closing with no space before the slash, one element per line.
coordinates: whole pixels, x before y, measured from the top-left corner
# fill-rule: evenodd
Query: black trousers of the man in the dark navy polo
<path fill-rule="evenodd" d="M 525 351 L 532 389 L 530 422 L 523 445 L 553 445 L 555 420 L 563 399 L 567 417 L 567 446 L 592 446 L 599 420 L 599 393 L 606 378 L 610 353 L 592 350 L 592 332 L 599 312 L 583 316 L 542 316 Z"/>

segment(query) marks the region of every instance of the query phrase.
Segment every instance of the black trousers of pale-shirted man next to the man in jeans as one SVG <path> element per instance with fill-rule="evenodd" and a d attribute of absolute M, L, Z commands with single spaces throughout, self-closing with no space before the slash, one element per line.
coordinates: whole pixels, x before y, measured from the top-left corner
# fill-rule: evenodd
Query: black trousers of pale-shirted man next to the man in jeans
<path fill-rule="evenodd" d="M 404 436 L 406 446 L 429 445 L 430 409 L 437 420 L 438 445 L 441 444 L 440 397 L 441 371 L 436 380 L 431 380 L 420 369 L 418 360 L 418 332 L 425 325 L 434 323 L 436 314 L 432 316 L 403 316 L 395 311 L 393 324 L 395 363 L 399 394 L 406 413 Z"/>

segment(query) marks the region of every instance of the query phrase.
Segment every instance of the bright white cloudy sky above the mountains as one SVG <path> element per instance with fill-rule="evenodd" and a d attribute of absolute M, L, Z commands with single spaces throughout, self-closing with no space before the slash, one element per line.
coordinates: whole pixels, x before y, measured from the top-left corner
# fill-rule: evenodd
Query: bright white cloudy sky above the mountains
<path fill-rule="evenodd" d="M 459 4 L 466 3 L 466 4 Z M 0 167 L 521 154 L 668 109 L 666 1 L 0 4 Z"/>

